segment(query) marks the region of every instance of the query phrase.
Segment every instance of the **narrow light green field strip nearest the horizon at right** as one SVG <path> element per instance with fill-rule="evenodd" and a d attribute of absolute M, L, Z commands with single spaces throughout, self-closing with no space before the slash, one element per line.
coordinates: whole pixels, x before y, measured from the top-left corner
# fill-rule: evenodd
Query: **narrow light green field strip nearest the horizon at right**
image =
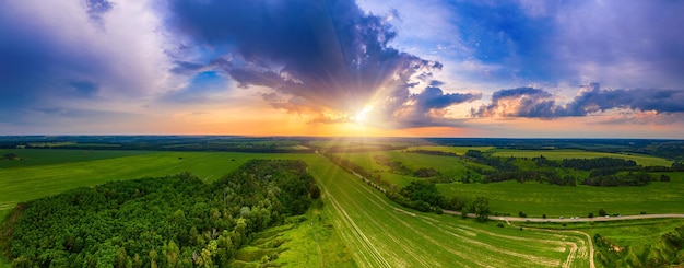
<path fill-rule="evenodd" d="M 672 161 L 639 154 L 622 154 L 622 153 L 603 153 L 603 152 L 590 152 L 581 150 L 511 150 L 511 149 L 496 149 L 494 156 L 500 158 L 544 158 L 550 160 L 564 160 L 564 159 L 597 159 L 597 158 L 615 158 L 634 160 L 638 165 L 652 165 L 652 166 L 671 166 Z"/>

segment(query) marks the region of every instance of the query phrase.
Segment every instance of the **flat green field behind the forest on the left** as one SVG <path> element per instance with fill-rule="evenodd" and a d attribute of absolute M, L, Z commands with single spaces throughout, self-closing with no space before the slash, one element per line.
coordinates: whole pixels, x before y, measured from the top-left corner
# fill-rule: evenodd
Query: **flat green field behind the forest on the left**
<path fill-rule="evenodd" d="M 0 170 L 0 213 L 17 202 L 54 195 L 79 186 L 109 180 L 164 176 L 191 172 L 211 182 L 234 171 L 249 159 L 298 159 L 300 154 L 248 154 L 232 152 L 125 152 L 23 150 L 25 166 Z M 38 154 L 46 153 L 43 156 Z M 135 155 L 138 154 L 138 155 Z M 33 155 L 33 156 L 31 156 Z M 96 155 L 93 161 L 85 161 Z M 31 162 L 35 160 L 35 164 Z M 39 164 L 45 163 L 45 164 Z M 1 215 L 1 214 L 0 214 Z"/>

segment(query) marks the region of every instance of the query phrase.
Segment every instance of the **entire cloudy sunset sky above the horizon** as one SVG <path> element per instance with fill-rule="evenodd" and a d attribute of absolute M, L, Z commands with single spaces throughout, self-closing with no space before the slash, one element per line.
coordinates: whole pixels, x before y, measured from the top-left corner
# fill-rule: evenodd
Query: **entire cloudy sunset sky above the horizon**
<path fill-rule="evenodd" d="M 684 139 L 684 1 L 0 0 L 0 135 Z"/>

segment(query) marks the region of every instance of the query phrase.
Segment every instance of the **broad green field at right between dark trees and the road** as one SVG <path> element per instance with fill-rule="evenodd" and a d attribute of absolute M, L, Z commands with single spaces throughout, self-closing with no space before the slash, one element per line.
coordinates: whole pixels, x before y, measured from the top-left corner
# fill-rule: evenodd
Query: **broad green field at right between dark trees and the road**
<path fill-rule="evenodd" d="M 446 196 L 487 196 L 492 211 L 529 217 L 587 217 L 600 208 L 610 214 L 684 213 L 684 173 L 668 173 L 668 183 L 640 187 L 556 186 L 535 182 L 439 184 Z"/>

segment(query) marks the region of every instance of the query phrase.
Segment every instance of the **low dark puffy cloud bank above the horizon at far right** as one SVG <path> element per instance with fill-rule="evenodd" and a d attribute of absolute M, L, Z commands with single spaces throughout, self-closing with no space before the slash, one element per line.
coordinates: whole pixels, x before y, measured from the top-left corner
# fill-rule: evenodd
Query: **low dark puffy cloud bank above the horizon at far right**
<path fill-rule="evenodd" d="M 557 118 L 581 117 L 611 109 L 632 110 L 620 118 L 644 120 L 647 115 L 684 113 L 684 90 L 668 89 L 616 89 L 601 90 L 600 84 L 591 83 L 580 89 L 571 102 L 556 104 L 555 96 L 542 89 L 518 88 L 494 93 L 492 102 L 472 109 L 474 117 L 527 117 Z M 639 115 L 639 116 L 625 116 Z M 667 118 L 674 118 L 667 116 Z M 662 120 L 659 120 L 662 121 Z"/>

